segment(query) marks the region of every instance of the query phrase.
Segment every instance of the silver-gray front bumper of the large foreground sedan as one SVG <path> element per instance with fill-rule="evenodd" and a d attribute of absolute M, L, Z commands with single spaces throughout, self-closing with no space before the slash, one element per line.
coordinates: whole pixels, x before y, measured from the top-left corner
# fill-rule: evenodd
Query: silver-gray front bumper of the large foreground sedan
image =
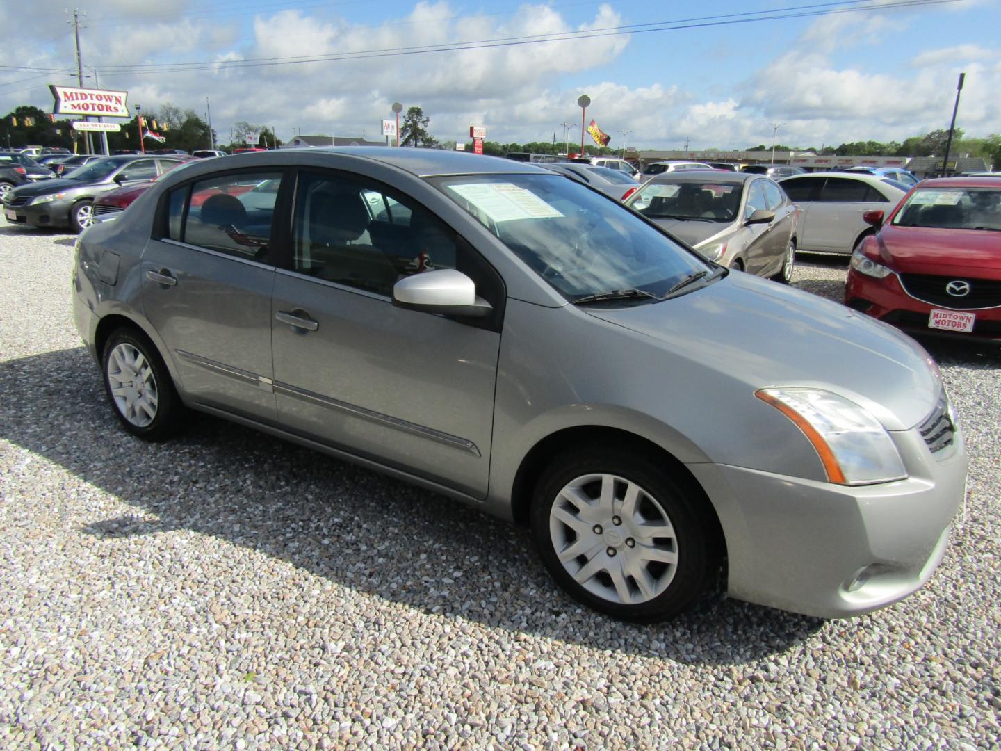
<path fill-rule="evenodd" d="M 947 456 L 933 457 L 916 430 L 893 437 L 909 474 L 894 483 L 847 487 L 690 465 L 723 527 L 728 595 L 847 618 L 920 589 L 942 560 L 968 462 L 958 429 Z"/>

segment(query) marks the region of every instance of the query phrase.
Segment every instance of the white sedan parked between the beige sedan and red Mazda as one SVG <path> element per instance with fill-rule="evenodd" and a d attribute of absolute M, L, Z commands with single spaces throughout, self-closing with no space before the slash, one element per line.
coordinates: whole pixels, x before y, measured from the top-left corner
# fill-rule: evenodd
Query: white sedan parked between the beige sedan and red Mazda
<path fill-rule="evenodd" d="M 866 211 L 889 214 L 907 194 L 882 177 L 849 172 L 793 175 L 779 184 L 800 210 L 798 249 L 845 255 L 874 231 Z"/>

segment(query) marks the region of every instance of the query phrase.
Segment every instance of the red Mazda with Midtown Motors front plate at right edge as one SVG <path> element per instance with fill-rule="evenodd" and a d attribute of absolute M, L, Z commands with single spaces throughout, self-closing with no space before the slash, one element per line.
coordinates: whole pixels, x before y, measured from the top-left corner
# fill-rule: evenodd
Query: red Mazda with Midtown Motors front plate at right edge
<path fill-rule="evenodd" d="M 845 303 L 914 333 L 1001 341 L 1001 184 L 915 185 L 855 248 Z"/>

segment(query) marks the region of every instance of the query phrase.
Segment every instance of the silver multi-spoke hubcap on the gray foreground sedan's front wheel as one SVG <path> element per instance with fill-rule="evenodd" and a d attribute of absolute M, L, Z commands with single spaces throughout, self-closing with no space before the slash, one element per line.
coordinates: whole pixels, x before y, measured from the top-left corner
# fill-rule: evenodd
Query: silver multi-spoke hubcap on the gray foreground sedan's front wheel
<path fill-rule="evenodd" d="M 617 475 L 568 483 L 550 511 L 550 540 L 567 573 L 613 603 L 653 600 L 678 570 L 678 540 L 664 508 Z"/>

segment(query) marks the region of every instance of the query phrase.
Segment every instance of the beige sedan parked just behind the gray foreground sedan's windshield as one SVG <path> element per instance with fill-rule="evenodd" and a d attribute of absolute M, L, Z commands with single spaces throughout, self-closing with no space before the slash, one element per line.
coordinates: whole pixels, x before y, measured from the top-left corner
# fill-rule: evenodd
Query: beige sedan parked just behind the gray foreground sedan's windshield
<path fill-rule="evenodd" d="M 773 180 L 744 172 L 667 172 L 626 205 L 710 260 L 788 284 L 796 264 L 796 207 Z"/>

